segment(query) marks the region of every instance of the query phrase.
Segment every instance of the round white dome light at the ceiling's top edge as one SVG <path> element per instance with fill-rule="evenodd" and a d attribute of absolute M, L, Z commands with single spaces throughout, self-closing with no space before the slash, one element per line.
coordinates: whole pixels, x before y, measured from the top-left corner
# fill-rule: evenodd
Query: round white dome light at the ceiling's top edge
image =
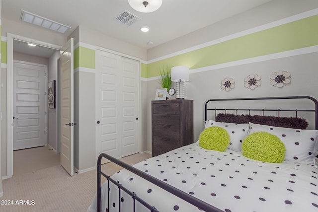
<path fill-rule="evenodd" d="M 128 0 L 128 3 L 139 12 L 154 12 L 160 8 L 162 0 Z"/>

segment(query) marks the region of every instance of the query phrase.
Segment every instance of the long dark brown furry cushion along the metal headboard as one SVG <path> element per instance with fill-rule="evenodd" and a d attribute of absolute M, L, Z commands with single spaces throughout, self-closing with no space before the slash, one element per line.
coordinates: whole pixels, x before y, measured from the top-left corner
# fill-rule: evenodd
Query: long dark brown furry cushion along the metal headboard
<path fill-rule="evenodd" d="M 305 130 L 308 122 L 303 118 L 296 117 L 276 117 L 276 116 L 250 116 L 235 114 L 218 114 L 215 118 L 217 122 L 228 122 L 236 124 L 244 124 L 252 122 L 254 124 L 269 125 L 274 127 L 285 127 Z"/>

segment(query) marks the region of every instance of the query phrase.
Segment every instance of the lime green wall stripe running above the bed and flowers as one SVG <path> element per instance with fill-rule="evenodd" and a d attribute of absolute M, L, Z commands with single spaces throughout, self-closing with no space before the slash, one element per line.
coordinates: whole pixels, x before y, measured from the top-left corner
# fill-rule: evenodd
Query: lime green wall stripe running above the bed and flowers
<path fill-rule="evenodd" d="M 188 66 L 190 69 L 213 66 L 274 53 L 318 45 L 318 15 L 251 33 L 147 64 L 147 74 L 158 76 L 163 66 Z M 145 68 L 144 68 L 145 69 Z"/>

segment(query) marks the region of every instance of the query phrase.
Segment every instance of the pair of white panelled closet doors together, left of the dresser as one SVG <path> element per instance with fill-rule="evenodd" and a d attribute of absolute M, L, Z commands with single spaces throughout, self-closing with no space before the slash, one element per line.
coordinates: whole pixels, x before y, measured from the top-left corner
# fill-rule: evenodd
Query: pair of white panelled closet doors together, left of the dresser
<path fill-rule="evenodd" d="M 96 158 L 139 152 L 139 62 L 96 50 Z"/>

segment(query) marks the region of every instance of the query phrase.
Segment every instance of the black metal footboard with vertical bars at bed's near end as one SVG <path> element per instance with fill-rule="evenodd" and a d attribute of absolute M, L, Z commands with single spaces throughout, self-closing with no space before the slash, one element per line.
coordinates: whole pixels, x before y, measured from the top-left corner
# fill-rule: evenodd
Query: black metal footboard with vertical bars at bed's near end
<path fill-rule="evenodd" d="M 203 210 L 203 211 L 206 211 L 206 212 L 223 212 L 222 210 L 220 209 L 217 209 L 215 208 L 214 206 L 211 206 L 209 204 L 207 204 L 206 202 L 203 202 L 173 186 L 170 186 L 169 184 L 166 184 L 160 180 L 158 180 L 157 178 L 149 175 L 149 174 L 146 174 L 144 172 L 142 172 L 141 170 L 139 169 L 136 169 L 135 167 L 129 165 L 129 164 L 126 164 L 108 154 L 105 154 L 105 153 L 101 153 L 99 156 L 98 156 L 98 160 L 97 160 L 97 212 L 100 212 L 101 210 L 101 175 L 103 175 L 106 179 L 107 179 L 107 183 L 108 183 L 108 188 L 109 188 L 109 184 L 110 183 L 113 183 L 115 184 L 118 189 L 119 189 L 119 199 L 118 199 L 118 203 L 119 203 L 119 212 L 121 212 L 121 209 L 120 209 L 120 204 L 121 204 L 121 197 L 120 197 L 120 192 L 123 191 L 123 192 L 126 192 L 128 195 L 130 195 L 132 198 L 133 198 L 133 203 L 134 205 L 132 206 L 133 207 L 133 210 L 135 212 L 135 201 L 138 201 L 139 203 L 141 203 L 143 206 L 145 206 L 147 209 L 149 209 L 151 212 L 159 212 L 154 206 L 151 206 L 149 205 L 147 202 L 145 202 L 142 198 L 138 197 L 137 194 L 135 193 L 132 193 L 131 191 L 129 191 L 127 188 L 125 188 L 123 185 L 121 184 L 118 184 L 115 180 L 113 180 L 110 176 L 106 175 L 105 173 L 103 173 L 101 171 L 101 159 L 102 158 L 106 158 L 114 163 L 116 163 L 117 165 L 123 167 L 124 169 L 127 169 L 128 171 L 144 178 L 145 180 L 159 186 L 160 188 L 166 190 L 167 192 L 170 192 L 171 194 L 181 198 L 182 200 L 192 204 L 193 206 Z M 108 200 L 107 200 L 107 208 L 109 209 L 109 189 L 108 189 Z"/>

